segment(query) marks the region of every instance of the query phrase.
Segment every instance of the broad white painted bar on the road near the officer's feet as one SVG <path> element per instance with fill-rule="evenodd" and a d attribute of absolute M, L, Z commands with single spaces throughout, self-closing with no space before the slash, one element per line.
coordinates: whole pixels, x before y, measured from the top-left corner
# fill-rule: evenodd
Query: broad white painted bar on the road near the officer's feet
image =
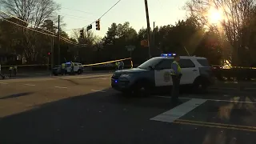
<path fill-rule="evenodd" d="M 206 102 L 205 99 L 192 98 L 190 101 L 183 103 L 182 105 L 176 106 L 171 110 L 168 110 L 162 114 L 157 115 L 150 120 L 160 121 L 160 122 L 174 122 L 176 119 L 181 118 L 183 115 L 189 113 L 194 108 L 202 105 Z"/>

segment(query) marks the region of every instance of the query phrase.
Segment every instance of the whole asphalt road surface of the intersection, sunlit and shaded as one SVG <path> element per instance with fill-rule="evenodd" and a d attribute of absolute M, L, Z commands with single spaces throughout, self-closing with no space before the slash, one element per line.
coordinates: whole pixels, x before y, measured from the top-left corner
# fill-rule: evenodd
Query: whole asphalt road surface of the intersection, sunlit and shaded
<path fill-rule="evenodd" d="M 0 143 L 254 144 L 256 96 L 234 90 L 126 98 L 110 75 L 0 81 Z"/>

